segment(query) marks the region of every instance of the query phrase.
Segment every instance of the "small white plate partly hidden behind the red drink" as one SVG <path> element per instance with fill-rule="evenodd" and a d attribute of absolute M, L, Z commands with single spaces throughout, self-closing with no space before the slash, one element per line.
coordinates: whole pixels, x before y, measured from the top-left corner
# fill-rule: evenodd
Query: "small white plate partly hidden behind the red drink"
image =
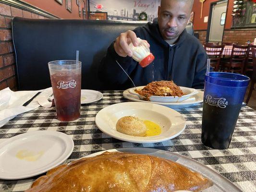
<path fill-rule="evenodd" d="M 103 94 L 89 89 L 81 90 L 81 104 L 93 103 L 102 99 Z"/>

